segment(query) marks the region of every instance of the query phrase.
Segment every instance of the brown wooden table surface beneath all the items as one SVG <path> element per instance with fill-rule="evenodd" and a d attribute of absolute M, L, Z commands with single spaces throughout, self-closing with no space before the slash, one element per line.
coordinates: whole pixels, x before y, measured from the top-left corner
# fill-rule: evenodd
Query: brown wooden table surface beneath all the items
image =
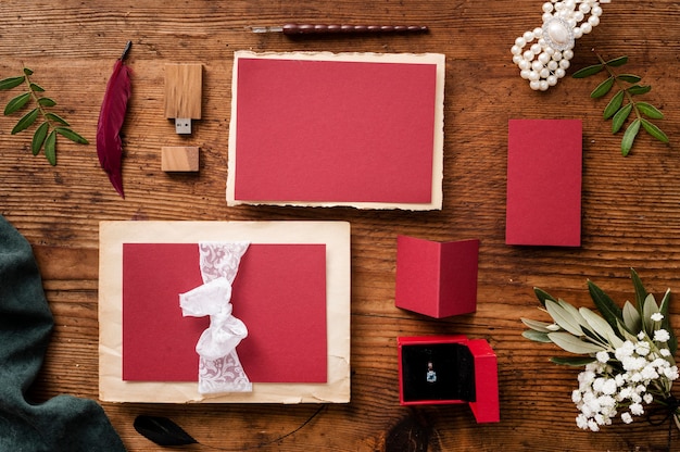
<path fill-rule="evenodd" d="M 628 158 L 603 121 L 599 79 L 564 78 L 549 92 L 520 79 L 509 48 L 541 23 L 537 0 L 159 0 L 20 1 L 0 7 L 0 78 L 22 65 L 58 102 L 89 146 L 59 140 L 58 165 L 30 153 L 32 133 L 10 135 L 0 117 L 0 213 L 28 239 L 55 317 L 53 339 L 33 397 L 98 397 L 98 226 L 102 219 L 333 219 L 352 225 L 352 401 L 317 405 L 103 406 L 130 451 L 156 448 L 133 428 L 138 414 L 165 415 L 204 444 L 281 451 L 660 451 L 665 427 L 643 419 L 585 432 L 575 425 L 570 392 L 578 371 L 521 338 L 520 316 L 538 316 L 532 287 L 592 305 L 591 278 L 619 303 L 632 297 L 629 268 L 647 288 L 680 291 L 680 4 L 670 0 L 604 4 L 602 23 L 577 41 L 575 68 L 629 55 L 627 72 L 653 86 L 646 100 L 670 145 L 641 135 Z M 425 24 L 426 35 L 290 39 L 251 25 Z M 123 129 L 118 197 L 100 170 L 95 136 L 112 65 L 127 40 L 134 89 Z M 225 202 L 234 51 L 440 52 L 446 55 L 444 202 L 441 211 L 348 208 L 228 208 Z M 164 65 L 202 63 L 203 118 L 182 138 L 163 114 Z M 12 97 L 0 91 L 0 102 Z M 62 110 L 59 110 L 61 108 Z M 505 244 L 509 118 L 583 122 L 582 246 Z M 551 137 L 546 136 L 546 140 Z M 196 175 L 161 171 L 161 147 L 200 146 Z M 404 180 L 407 184 L 407 180 Z M 481 240 L 478 310 L 432 319 L 394 307 L 396 236 Z M 680 325 L 680 306 L 671 307 Z M 465 334 L 487 339 L 499 359 L 501 422 L 476 424 L 465 405 L 399 404 L 396 337 Z M 299 427 L 298 431 L 294 431 Z M 294 432 L 293 432 L 294 431 Z M 288 435 L 293 432 L 292 435 Z M 281 437 L 284 437 L 281 439 Z M 672 450 L 680 450 L 673 431 Z M 201 447 L 189 448 L 202 450 Z M 209 450 L 207 447 L 204 448 Z"/>

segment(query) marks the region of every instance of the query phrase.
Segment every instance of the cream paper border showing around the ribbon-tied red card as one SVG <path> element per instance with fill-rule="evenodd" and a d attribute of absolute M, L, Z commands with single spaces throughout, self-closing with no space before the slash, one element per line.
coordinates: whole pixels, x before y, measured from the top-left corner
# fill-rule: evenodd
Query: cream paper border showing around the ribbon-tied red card
<path fill-rule="evenodd" d="M 99 398 L 149 403 L 347 403 L 350 401 L 350 224 L 347 222 L 101 222 Z M 326 384 L 253 384 L 253 392 L 205 397 L 193 382 L 124 381 L 123 243 L 326 244 Z"/>

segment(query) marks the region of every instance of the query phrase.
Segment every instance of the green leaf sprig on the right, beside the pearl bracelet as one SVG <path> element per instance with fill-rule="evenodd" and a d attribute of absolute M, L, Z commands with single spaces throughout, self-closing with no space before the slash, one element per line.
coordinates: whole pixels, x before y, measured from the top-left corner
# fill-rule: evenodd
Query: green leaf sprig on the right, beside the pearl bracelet
<path fill-rule="evenodd" d="M 612 120 L 612 134 L 617 134 L 624 127 L 626 120 L 631 113 L 634 113 L 634 118 L 625 128 L 624 138 L 621 139 L 621 154 L 624 156 L 630 153 L 633 141 L 642 127 L 647 134 L 656 138 L 662 142 L 668 142 L 668 136 L 662 131 L 658 126 L 653 124 L 650 120 L 662 120 L 664 114 L 654 105 L 647 102 L 637 101 L 635 96 L 645 95 L 652 90 L 650 85 L 640 85 L 642 77 L 633 74 L 617 74 L 614 67 L 620 67 L 628 63 L 628 56 L 619 56 L 613 60 L 605 61 L 602 56 L 595 53 L 599 64 L 583 67 L 580 71 L 574 73 L 574 78 L 585 78 L 591 75 L 599 74 L 602 71 L 606 71 L 608 77 L 602 81 L 590 93 L 593 99 L 599 99 L 606 96 L 614 87 L 618 90 L 614 97 L 607 103 L 604 109 L 603 116 L 605 120 Z M 645 117 L 646 116 L 646 117 Z"/>

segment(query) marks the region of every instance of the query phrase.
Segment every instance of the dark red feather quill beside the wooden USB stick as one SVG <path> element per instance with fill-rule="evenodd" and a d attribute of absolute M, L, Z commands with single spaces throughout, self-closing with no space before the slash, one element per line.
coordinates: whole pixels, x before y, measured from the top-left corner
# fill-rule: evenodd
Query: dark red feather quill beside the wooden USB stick
<path fill-rule="evenodd" d="M 109 175 L 109 180 L 118 194 L 123 193 L 123 141 L 121 128 L 125 122 L 127 100 L 130 97 L 130 68 L 123 64 L 133 42 L 128 42 L 125 51 L 113 66 L 113 74 L 106 84 L 106 92 L 99 112 L 97 124 L 97 155 L 101 167 Z"/>

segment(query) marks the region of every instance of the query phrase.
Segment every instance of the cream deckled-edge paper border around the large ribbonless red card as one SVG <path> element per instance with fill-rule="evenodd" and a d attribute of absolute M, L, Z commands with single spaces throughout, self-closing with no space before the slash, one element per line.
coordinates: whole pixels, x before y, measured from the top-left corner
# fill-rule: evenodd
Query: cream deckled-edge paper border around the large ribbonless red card
<path fill-rule="evenodd" d="M 436 64 L 436 110 L 435 110 L 435 149 L 432 155 L 432 199 L 428 203 L 394 203 L 394 202 L 299 202 L 299 201 L 242 201 L 235 198 L 236 185 L 236 111 L 238 92 L 238 64 L 241 58 L 287 59 L 312 61 L 356 61 L 379 63 L 413 63 Z M 248 50 L 234 52 L 234 70 L 231 74 L 231 118 L 229 121 L 228 172 L 227 172 L 227 205 L 268 204 L 299 205 L 311 208 L 351 206 L 357 209 L 401 209 L 410 211 L 441 210 L 443 202 L 442 181 L 444 167 L 444 78 L 445 56 L 441 53 L 331 53 L 331 52 L 266 52 L 255 53 Z"/>

